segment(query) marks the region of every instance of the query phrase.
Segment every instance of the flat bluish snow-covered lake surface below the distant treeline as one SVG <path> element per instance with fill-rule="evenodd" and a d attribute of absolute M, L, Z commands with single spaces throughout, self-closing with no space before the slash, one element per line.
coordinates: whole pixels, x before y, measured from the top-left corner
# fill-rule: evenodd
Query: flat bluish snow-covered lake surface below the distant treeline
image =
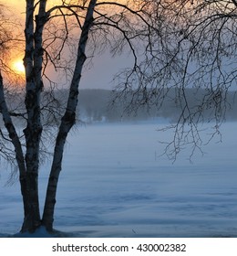
<path fill-rule="evenodd" d="M 222 143 L 165 156 L 156 123 L 81 126 L 68 139 L 55 228 L 73 237 L 237 237 L 237 123 Z M 40 172 L 41 204 L 48 166 Z M 0 237 L 22 223 L 17 182 L 0 179 Z"/>

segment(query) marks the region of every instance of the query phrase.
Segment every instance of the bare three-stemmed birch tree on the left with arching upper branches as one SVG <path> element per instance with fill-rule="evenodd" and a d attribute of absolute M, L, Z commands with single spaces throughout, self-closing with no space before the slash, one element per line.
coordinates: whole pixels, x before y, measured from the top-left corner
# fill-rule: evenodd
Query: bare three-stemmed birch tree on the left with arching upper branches
<path fill-rule="evenodd" d="M 112 55 L 116 55 L 126 49 L 133 58 L 131 69 L 135 71 L 139 69 L 140 56 L 152 47 L 150 37 L 156 36 L 153 33 L 156 30 L 156 15 L 151 15 L 158 6 L 156 1 L 86 0 L 49 4 L 50 1 L 46 0 L 26 0 L 26 20 L 22 29 L 26 69 L 23 112 L 11 112 L 9 109 L 5 99 L 5 77 L 0 76 L 0 108 L 8 140 L 14 147 L 23 197 L 24 221 L 21 232 L 35 232 L 41 226 L 53 231 L 57 182 L 67 134 L 76 123 L 78 86 L 88 59 L 87 53 L 95 54 L 110 48 Z M 69 49 L 73 50 L 75 59 L 67 59 Z M 53 84 L 46 72 L 49 65 L 65 71 L 69 92 L 66 107 L 58 122 L 45 207 L 41 214 L 38 170 L 41 142 L 46 137 L 42 111 L 45 106 L 50 108 L 50 102 L 45 104 L 42 101 L 44 91 L 47 90 L 46 84 Z M 72 74 L 70 80 L 68 72 Z M 20 133 L 12 118 L 16 115 L 26 123 Z"/>

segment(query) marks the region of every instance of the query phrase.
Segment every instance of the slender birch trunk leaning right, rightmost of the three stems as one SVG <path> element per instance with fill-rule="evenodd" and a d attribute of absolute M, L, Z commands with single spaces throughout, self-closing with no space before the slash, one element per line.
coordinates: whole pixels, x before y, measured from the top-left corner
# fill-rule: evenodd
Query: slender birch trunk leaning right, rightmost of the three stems
<path fill-rule="evenodd" d="M 57 141 L 55 145 L 51 172 L 48 179 L 48 185 L 46 190 L 46 202 L 42 219 L 42 224 L 46 227 L 48 231 L 53 230 L 57 182 L 60 171 L 62 169 L 64 145 L 66 143 L 67 134 L 69 133 L 71 127 L 74 125 L 76 121 L 75 116 L 77 108 L 78 85 L 80 82 L 83 65 L 87 59 L 85 51 L 88 42 L 88 33 L 90 27 L 93 25 L 93 13 L 96 3 L 96 0 L 91 0 L 88 5 L 87 16 L 85 18 L 85 23 L 82 27 L 81 36 L 78 42 L 77 61 L 74 70 L 74 75 L 70 85 L 70 91 L 67 101 L 67 110 L 61 120 L 61 124 L 57 133 Z"/>

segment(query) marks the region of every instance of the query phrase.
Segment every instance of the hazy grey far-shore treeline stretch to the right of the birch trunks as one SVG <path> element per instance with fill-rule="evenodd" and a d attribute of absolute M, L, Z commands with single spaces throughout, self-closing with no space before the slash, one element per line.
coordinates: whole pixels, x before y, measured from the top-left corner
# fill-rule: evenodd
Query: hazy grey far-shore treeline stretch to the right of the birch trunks
<path fill-rule="evenodd" d="M 237 120 L 237 103 L 234 101 L 235 92 L 229 91 L 222 95 L 215 92 L 213 95 L 199 89 L 187 89 L 186 99 L 191 112 L 201 112 L 203 119 L 208 120 L 211 115 L 222 115 L 227 121 Z M 204 96 L 205 95 L 205 96 Z M 184 105 L 184 99 L 179 99 L 175 90 L 170 90 L 162 104 L 147 104 L 133 107 L 133 111 L 126 111 L 129 99 L 113 104 L 113 91 L 108 90 L 81 90 L 77 108 L 77 116 L 85 122 L 122 122 L 165 118 L 177 121 Z M 217 99 L 217 97 L 219 97 Z M 199 116 L 198 114 L 195 116 Z"/>

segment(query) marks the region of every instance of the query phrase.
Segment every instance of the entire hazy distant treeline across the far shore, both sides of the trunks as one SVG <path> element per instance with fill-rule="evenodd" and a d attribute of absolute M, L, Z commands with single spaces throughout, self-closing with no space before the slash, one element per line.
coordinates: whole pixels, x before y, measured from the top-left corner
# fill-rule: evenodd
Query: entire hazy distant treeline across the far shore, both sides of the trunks
<path fill-rule="evenodd" d="M 175 89 L 171 89 L 168 93 L 164 93 L 164 97 L 154 103 L 133 105 L 129 107 L 132 94 L 126 99 L 120 99 L 112 103 L 116 97 L 113 91 L 108 90 L 81 90 L 78 96 L 77 121 L 86 123 L 98 122 L 128 122 L 128 121 L 146 121 L 150 119 L 163 118 L 176 122 L 183 112 L 185 102 L 189 104 L 189 110 L 197 114 L 193 118 L 201 119 L 199 121 L 208 121 L 215 117 L 224 117 L 226 121 L 237 120 L 237 103 L 235 99 L 235 91 L 228 93 L 214 93 L 205 90 L 186 89 L 185 99 Z M 43 91 L 42 93 L 42 123 L 44 125 L 58 124 L 58 121 L 64 113 L 67 104 L 67 90 Z M 8 93 L 6 97 L 11 112 L 25 113 L 24 92 Z M 185 102 L 184 102 L 185 101 Z M 162 102 L 162 103 L 161 103 Z M 160 104 L 161 103 L 161 104 Z M 129 112 L 127 112 L 129 109 Z M 185 113 L 184 112 L 184 113 Z M 201 115 L 199 115 L 199 113 Z M 25 116 L 26 115 L 21 115 Z M 26 118 L 13 115 L 15 122 L 19 125 L 26 126 Z M 0 126 L 3 127 L 3 121 L 0 120 Z M 0 128 L 1 128 L 0 127 Z"/>

